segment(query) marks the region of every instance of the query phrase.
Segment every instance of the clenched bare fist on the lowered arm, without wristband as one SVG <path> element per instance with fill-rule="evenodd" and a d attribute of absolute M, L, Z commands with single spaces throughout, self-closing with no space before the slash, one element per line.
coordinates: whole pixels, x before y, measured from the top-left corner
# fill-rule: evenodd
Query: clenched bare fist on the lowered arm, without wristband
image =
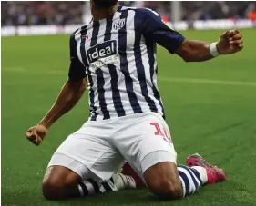
<path fill-rule="evenodd" d="M 36 125 L 26 131 L 26 138 L 38 146 L 46 137 L 48 130 L 43 125 Z"/>

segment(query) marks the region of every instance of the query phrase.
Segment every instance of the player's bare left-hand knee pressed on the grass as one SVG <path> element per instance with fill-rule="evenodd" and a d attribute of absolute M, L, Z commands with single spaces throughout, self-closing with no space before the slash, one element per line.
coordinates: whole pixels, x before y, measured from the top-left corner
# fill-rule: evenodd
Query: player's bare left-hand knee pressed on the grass
<path fill-rule="evenodd" d="M 43 181 L 42 191 L 47 200 L 65 199 L 69 188 L 74 185 L 75 180 L 71 178 L 48 178 Z"/>

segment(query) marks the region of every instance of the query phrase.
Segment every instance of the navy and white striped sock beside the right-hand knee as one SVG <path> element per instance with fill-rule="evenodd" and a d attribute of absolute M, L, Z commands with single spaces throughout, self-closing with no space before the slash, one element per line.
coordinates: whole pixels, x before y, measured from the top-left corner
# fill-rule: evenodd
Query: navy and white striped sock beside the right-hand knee
<path fill-rule="evenodd" d="M 198 172 L 196 169 L 184 165 L 178 165 L 177 169 L 179 172 L 179 180 L 182 184 L 184 197 L 194 193 L 203 185 L 203 183 L 205 183 L 201 180 L 200 172 Z"/>

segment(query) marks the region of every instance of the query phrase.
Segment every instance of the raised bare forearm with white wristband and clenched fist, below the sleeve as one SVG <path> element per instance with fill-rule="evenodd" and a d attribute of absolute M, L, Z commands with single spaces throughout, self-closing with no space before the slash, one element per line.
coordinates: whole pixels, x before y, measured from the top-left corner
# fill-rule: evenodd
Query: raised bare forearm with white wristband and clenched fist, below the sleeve
<path fill-rule="evenodd" d="M 202 62 L 220 54 L 237 53 L 242 48 L 242 34 L 234 29 L 221 34 L 216 43 L 184 40 L 175 53 L 186 62 Z"/>

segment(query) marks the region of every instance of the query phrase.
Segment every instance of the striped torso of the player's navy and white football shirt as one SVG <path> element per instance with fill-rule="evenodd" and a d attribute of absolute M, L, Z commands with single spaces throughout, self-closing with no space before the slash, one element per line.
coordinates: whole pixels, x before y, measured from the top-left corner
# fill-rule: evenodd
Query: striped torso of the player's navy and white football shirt
<path fill-rule="evenodd" d="M 161 34 L 167 36 L 168 32 L 171 36 L 173 31 L 167 30 L 159 15 L 124 6 L 107 19 L 84 25 L 73 34 L 77 57 L 87 73 L 92 121 L 148 112 L 164 117 L 156 81 L 156 43 L 160 36 L 156 35 L 154 41 L 148 37 L 149 28 L 144 24 L 148 14 L 157 22 L 150 28 L 162 29 Z M 77 71 L 77 75 L 81 72 L 81 68 L 70 70 Z M 70 74 L 76 74 L 74 71 Z"/>

